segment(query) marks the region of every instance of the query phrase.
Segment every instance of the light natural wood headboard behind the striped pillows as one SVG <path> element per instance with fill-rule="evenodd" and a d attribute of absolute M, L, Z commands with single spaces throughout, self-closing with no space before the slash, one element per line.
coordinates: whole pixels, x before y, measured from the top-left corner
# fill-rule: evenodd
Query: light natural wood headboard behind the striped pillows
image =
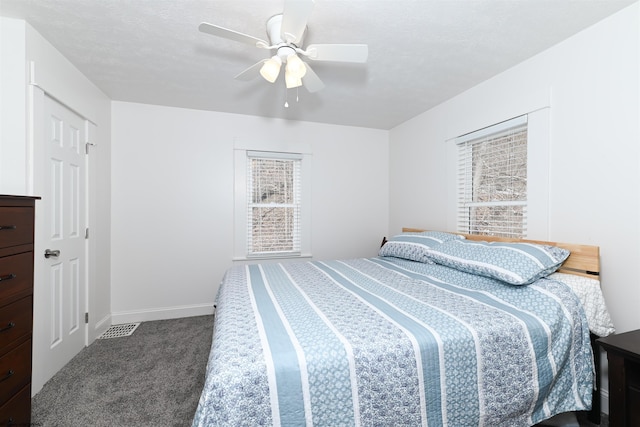
<path fill-rule="evenodd" d="M 408 228 L 402 229 L 403 232 L 421 232 L 427 231 L 421 228 Z M 464 236 L 469 240 L 480 240 L 485 242 L 524 242 L 524 243 L 537 243 L 541 245 L 558 246 L 563 249 L 567 249 L 571 254 L 569 258 L 562 264 L 558 270 L 561 273 L 577 274 L 579 276 L 592 277 L 600 274 L 600 247 L 591 245 L 578 245 L 574 243 L 559 243 L 559 242 L 546 242 L 542 240 L 527 240 L 527 239 L 511 239 L 507 237 L 495 237 L 495 236 L 479 236 L 477 234 L 462 234 L 455 233 Z"/>

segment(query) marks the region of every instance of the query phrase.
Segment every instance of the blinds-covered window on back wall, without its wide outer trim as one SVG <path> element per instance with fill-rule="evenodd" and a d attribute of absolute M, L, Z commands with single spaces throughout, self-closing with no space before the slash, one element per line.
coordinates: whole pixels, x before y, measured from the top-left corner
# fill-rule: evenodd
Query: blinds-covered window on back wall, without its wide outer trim
<path fill-rule="evenodd" d="M 300 156 L 249 152 L 247 255 L 300 253 Z"/>

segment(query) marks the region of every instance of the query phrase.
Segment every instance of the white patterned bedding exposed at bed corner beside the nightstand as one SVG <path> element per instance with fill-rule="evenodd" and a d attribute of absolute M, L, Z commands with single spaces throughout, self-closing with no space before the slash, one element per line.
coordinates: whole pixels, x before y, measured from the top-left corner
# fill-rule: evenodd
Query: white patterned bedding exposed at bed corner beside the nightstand
<path fill-rule="evenodd" d="M 599 280 L 566 273 L 553 273 L 548 278 L 564 283 L 578 296 L 591 332 L 599 337 L 606 337 L 615 332 Z"/>

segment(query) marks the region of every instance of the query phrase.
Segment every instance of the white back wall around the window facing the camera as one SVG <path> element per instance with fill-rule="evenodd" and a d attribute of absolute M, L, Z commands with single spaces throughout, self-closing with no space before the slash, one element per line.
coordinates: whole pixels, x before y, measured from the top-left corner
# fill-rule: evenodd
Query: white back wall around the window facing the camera
<path fill-rule="evenodd" d="M 375 255 L 388 132 L 112 103 L 114 323 L 210 313 L 233 257 L 233 147 L 311 147 L 314 258 Z"/>

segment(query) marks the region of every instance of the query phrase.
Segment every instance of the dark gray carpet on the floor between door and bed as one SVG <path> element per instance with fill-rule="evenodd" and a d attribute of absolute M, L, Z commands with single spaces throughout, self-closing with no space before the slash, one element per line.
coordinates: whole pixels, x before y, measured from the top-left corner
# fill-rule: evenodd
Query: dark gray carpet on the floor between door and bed
<path fill-rule="evenodd" d="M 40 427 L 189 426 L 204 384 L 213 316 L 143 322 L 96 340 L 32 400 Z"/>

